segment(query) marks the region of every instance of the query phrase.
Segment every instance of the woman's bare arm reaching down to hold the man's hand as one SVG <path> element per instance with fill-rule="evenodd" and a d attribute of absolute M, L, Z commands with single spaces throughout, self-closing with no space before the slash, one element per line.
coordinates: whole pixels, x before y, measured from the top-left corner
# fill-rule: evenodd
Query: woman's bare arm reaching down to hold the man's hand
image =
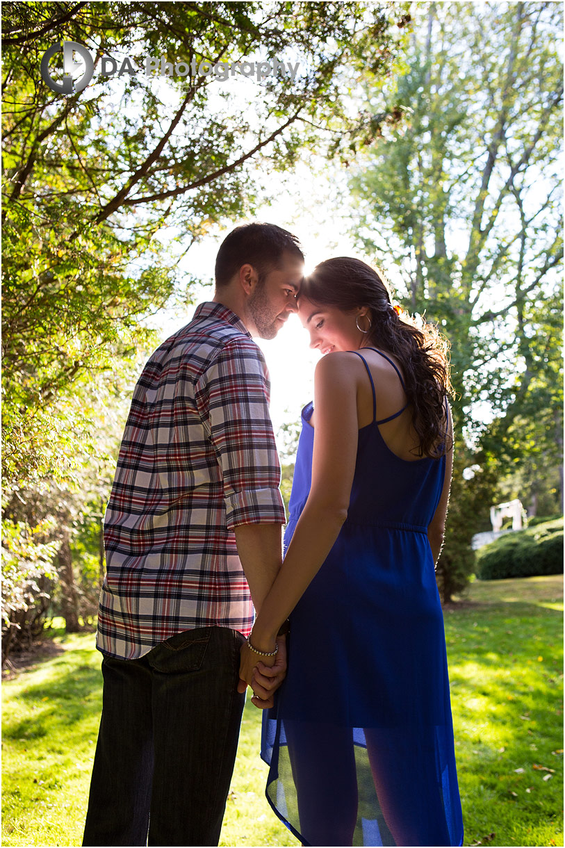
<path fill-rule="evenodd" d="M 274 650 L 277 631 L 294 610 L 338 538 L 350 504 L 357 455 L 357 381 L 350 354 L 327 354 L 316 365 L 316 430 L 312 483 L 269 593 L 257 616 L 251 643 L 258 650 Z M 259 657 L 243 654 L 240 675 L 251 679 Z"/>

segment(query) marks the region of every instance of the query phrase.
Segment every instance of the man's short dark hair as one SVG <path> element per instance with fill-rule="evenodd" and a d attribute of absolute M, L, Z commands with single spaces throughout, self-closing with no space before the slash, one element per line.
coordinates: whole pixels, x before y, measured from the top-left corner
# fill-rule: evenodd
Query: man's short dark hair
<path fill-rule="evenodd" d="M 299 240 L 276 224 L 243 224 L 227 235 L 215 258 L 215 284 L 226 286 L 242 265 L 253 265 L 259 278 L 279 268 L 282 254 L 304 262 Z"/>

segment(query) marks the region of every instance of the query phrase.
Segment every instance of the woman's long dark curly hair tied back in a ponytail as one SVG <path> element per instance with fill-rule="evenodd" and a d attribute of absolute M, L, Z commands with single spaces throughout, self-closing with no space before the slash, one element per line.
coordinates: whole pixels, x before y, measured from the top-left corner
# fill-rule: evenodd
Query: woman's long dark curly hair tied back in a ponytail
<path fill-rule="evenodd" d="M 412 427 L 417 433 L 417 456 L 434 459 L 445 454 L 445 398 L 452 393 L 449 343 L 436 327 L 419 321 L 390 302 L 382 277 L 361 259 L 340 256 L 316 265 L 305 277 L 299 296 L 316 304 L 351 312 L 369 308 L 367 345 L 393 354 L 402 365 Z"/>

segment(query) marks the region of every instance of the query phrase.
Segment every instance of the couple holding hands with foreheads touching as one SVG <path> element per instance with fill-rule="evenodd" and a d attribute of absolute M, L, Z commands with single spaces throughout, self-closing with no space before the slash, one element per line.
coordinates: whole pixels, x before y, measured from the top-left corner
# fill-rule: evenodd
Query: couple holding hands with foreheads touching
<path fill-rule="evenodd" d="M 104 519 L 84 845 L 217 845 L 247 684 L 265 709 L 267 798 L 303 844 L 462 845 L 434 578 L 445 347 L 361 261 L 303 267 L 290 233 L 239 226 L 214 300 L 137 382 Z M 291 312 L 329 355 L 303 410 L 282 562 L 251 337 L 274 338 Z"/>

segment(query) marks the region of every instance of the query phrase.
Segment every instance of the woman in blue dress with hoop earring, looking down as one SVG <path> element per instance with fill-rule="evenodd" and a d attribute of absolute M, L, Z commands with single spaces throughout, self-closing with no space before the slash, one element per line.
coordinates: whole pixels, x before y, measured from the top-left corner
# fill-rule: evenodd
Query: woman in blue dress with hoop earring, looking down
<path fill-rule="evenodd" d="M 267 798 L 305 845 L 462 845 L 434 574 L 452 466 L 446 346 L 357 259 L 318 265 L 299 317 L 325 355 L 286 555 L 240 672 L 264 691 L 290 616 L 263 728 Z"/>

